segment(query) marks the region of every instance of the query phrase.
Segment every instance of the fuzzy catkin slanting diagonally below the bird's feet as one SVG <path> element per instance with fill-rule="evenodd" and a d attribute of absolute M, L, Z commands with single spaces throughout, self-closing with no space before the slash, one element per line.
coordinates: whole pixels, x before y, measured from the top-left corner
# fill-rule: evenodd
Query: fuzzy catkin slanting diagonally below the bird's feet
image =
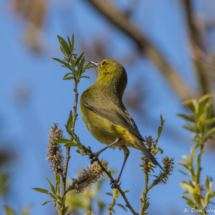
<path fill-rule="evenodd" d="M 107 169 L 108 162 L 101 160 L 102 165 Z M 83 192 L 87 187 L 98 181 L 100 177 L 103 176 L 103 170 L 97 162 L 93 163 L 87 170 L 78 176 L 77 179 L 72 178 L 72 185 L 69 190 L 76 190 L 77 193 Z"/>

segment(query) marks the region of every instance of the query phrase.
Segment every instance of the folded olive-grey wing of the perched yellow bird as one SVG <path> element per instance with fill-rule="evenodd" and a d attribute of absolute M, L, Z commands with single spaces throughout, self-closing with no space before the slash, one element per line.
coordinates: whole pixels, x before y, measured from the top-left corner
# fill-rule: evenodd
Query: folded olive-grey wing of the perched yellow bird
<path fill-rule="evenodd" d="M 92 94 L 89 96 L 88 93 L 84 93 L 81 99 L 83 104 L 96 114 L 106 118 L 116 125 L 120 125 L 130 133 L 137 136 L 141 141 L 145 141 L 138 131 L 134 120 L 129 115 L 123 104 L 119 107 L 114 104 L 114 102 L 108 101 L 107 98 L 101 99 Z"/>

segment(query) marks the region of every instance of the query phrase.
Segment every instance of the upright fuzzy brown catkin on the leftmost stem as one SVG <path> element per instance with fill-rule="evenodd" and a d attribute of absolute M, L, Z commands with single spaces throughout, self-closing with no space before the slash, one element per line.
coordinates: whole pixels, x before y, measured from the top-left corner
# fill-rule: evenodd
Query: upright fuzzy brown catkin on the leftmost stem
<path fill-rule="evenodd" d="M 63 155 L 60 144 L 55 143 L 57 139 L 63 138 L 63 131 L 54 123 L 49 133 L 48 154 L 46 160 L 50 163 L 51 170 L 57 173 L 63 173 Z"/>

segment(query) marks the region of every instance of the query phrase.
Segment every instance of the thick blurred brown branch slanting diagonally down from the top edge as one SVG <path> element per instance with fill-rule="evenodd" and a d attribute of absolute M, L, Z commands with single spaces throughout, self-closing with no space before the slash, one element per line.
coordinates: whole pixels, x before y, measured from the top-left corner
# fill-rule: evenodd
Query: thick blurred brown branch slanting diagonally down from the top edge
<path fill-rule="evenodd" d="M 170 66 L 160 51 L 146 39 L 145 35 L 140 32 L 128 17 L 107 0 L 88 0 L 88 2 L 136 43 L 141 53 L 146 54 L 154 62 L 182 100 L 192 97 L 189 89 L 175 72 L 175 69 Z"/>

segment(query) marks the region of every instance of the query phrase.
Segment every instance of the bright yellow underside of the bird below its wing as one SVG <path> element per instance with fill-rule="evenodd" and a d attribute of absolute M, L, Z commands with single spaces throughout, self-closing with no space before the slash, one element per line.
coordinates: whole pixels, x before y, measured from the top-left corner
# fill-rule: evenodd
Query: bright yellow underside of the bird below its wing
<path fill-rule="evenodd" d="M 87 129 L 100 143 L 109 145 L 117 138 L 120 138 L 119 144 L 114 145 L 113 148 L 120 147 L 120 145 L 137 148 L 135 147 L 135 142 L 141 142 L 139 138 L 131 134 L 125 128 L 91 111 L 83 104 L 82 99 L 80 99 L 80 109 Z"/>

